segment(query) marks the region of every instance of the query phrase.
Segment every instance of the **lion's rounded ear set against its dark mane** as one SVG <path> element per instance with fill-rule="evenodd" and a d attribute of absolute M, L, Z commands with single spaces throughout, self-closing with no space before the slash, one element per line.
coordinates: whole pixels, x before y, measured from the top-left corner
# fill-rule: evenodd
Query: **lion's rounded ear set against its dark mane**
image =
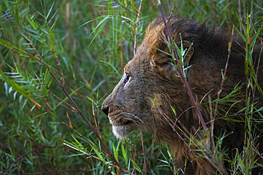
<path fill-rule="evenodd" d="M 176 43 L 176 45 L 178 45 L 179 50 L 181 50 L 181 46 L 183 45 L 183 50 L 186 54 L 186 57 L 183 56 L 183 66 L 186 67 L 190 58 L 193 56 L 193 45 L 188 40 L 182 40 L 181 42 Z"/>

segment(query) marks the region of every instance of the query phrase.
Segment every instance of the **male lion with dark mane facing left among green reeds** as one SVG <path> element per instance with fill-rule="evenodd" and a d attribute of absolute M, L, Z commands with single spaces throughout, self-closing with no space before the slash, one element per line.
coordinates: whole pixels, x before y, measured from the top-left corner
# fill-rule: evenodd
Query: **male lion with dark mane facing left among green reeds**
<path fill-rule="evenodd" d="M 232 38 L 227 78 L 220 92 L 222 101 L 219 101 L 213 134 L 216 138 L 227 135 L 221 146 L 229 157 L 234 157 L 242 152 L 246 132 L 243 110 L 247 87 L 244 40 L 238 33 L 232 36 L 231 31 L 209 28 L 206 22 L 197 23 L 188 18 L 175 17 L 166 18 L 166 22 L 175 43 L 187 51 L 183 61 L 183 66 L 187 68 L 186 80 L 209 130 L 212 130 L 211 113 L 215 110 L 222 72 L 229 55 L 228 43 Z M 155 142 L 170 145 L 174 152 L 174 162 L 181 168 L 182 174 L 215 174 L 216 162 L 211 161 L 209 155 L 196 156 L 200 152 L 191 149 L 196 149 L 198 145 L 188 145 L 188 137 L 203 128 L 167 45 L 163 20 L 156 18 L 146 29 L 145 38 L 136 55 L 124 67 L 119 84 L 102 103 L 102 111 L 108 115 L 117 138 L 123 139 L 133 130 L 151 132 Z M 258 63 L 260 50 L 261 45 L 256 44 L 253 64 L 254 69 L 258 67 L 258 84 L 263 86 L 263 64 Z M 252 115 L 257 120 L 253 122 L 254 137 L 258 137 L 253 146 L 260 154 L 263 151 L 260 135 L 263 124 L 259 120 L 262 120 L 263 100 L 259 92 L 254 94 L 253 99 L 254 110 L 258 109 Z M 261 166 L 254 168 L 252 174 L 263 172 L 262 158 L 258 158 L 257 164 Z M 221 169 L 222 174 L 230 172 L 227 161 L 223 167 L 227 170 Z"/>

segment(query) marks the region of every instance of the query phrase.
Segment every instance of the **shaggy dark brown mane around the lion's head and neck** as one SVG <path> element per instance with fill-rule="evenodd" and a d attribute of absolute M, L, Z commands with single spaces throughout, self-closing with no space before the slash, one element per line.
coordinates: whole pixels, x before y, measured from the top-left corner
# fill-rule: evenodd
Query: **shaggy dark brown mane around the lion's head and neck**
<path fill-rule="evenodd" d="M 197 103 L 200 103 L 199 107 L 203 118 L 208 123 L 211 120 L 210 109 L 208 106 L 205 106 L 205 103 L 208 104 L 208 98 L 205 96 L 209 94 L 212 101 L 216 101 L 218 98 L 217 94 L 222 82 L 221 71 L 225 69 L 228 56 L 228 43 L 230 43 L 232 38 L 230 59 L 227 67 L 227 79 L 224 81 L 220 97 L 223 98 L 227 96 L 231 91 L 233 91 L 235 86 L 238 85 L 240 86 L 240 90 L 237 91 L 235 96 L 232 97 L 232 100 L 239 102 L 235 103 L 233 108 L 230 107 L 233 103 L 220 105 L 217 119 L 215 120 L 214 134 L 216 137 L 219 137 L 220 134 L 222 134 L 222 131 L 225 133 L 232 133 L 231 137 L 226 137 L 223 140 L 222 145 L 227 148 L 237 148 L 241 151 L 245 137 L 244 122 L 237 123 L 231 121 L 231 119 L 237 121 L 240 120 L 240 118 L 244 118 L 244 113 L 240 113 L 240 111 L 242 108 L 245 108 L 244 94 L 246 94 L 246 88 L 244 84 L 246 84 L 247 81 L 247 76 L 245 75 L 245 41 L 242 40 L 237 32 L 234 32 L 232 36 L 232 31 L 208 27 L 207 21 L 199 24 L 189 18 L 171 17 L 171 19 L 167 21 L 167 26 L 171 32 L 171 37 L 173 39 L 176 38 L 175 43 L 177 45 L 181 45 L 181 40 L 193 43 L 192 47 L 194 52 L 189 62 L 191 67 L 188 69 L 186 77 L 191 91 L 195 95 L 195 100 Z M 171 111 L 171 107 L 169 106 L 170 103 L 173 106 L 179 106 L 176 108 L 176 111 L 179 111 L 178 113 L 183 113 L 181 108 L 191 108 L 192 103 L 188 96 L 185 96 L 184 98 L 178 97 L 178 87 L 182 86 L 181 80 L 174 76 L 175 73 L 171 68 L 171 56 L 159 51 L 163 50 L 164 52 L 169 53 L 166 40 L 167 34 L 165 26 L 163 25 L 163 20 L 162 18 L 156 18 L 156 20 L 151 23 L 146 30 L 144 43 L 149 45 L 148 59 L 149 62 L 154 62 L 154 65 L 151 65 L 151 69 L 155 73 L 156 77 L 158 77 L 157 79 L 159 79 L 159 86 L 171 87 L 167 88 L 163 93 L 159 91 L 161 96 L 165 96 L 165 98 L 159 99 L 159 103 L 162 104 L 160 105 L 160 108 L 162 108 L 163 111 L 166 111 L 167 114 L 167 111 Z M 252 55 L 255 67 L 257 67 L 260 50 L 261 45 L 256 44 Z M 252 67 L 250 68 L 252 69 Z M 170 77 L 168 77 L 168 75 L 170 75 Z M 263 64 L 259 64 L 259 72 L 257 76 L 259 85 L 263 86 L 261 78 L 263 77 Z M 167 96 L 167 94 L 169 95 Z M 167 103 L 167 99 L 173 99 L 173 101 L 169 101 L 169 103 Z M 181 99 L 181 101 L 179 101 L 179 99 Z M 259 102 L 256 106 L 262 106 L 263 98 L 258 91 L 256 92 L 254 100 Z M 200 101 L 202 101 L 202 103 Z M 156 115 L 158 115 L 158 113 L 159 111 L 156 112 Z M 172 115 L 173 112 L 171 111 L 168 116 Z M 224 115 L 227 115 L 227 118 L 230 118 L 230 120 L 227 121 L 222 119 L 221 117 Z M 262 120 L 259 115 L 253 114 L 253 118 Z M 193 108 L 181 115 L 181 123 L 185 128 L 188 128 L 188 130 L 191 130 L 193 126 L 198 128 L 199 120 Z M 257 135 L 261 132 L 262 125 L 259 125 L 258 127 L 259 129 L 256 131 Z M 171 132 L 173 131 L 171 130 Z M 181 162 L 182 164 L 180 166 L 183 166 L 183 160 L 185 157 L 188 157 L 188 153 L 186 151 L 187 148 L 183 148 L 184 143 L 181 142 L 180 139 L 176 140 L 176 142 L 171 141 L 175 140 L 176 135 L 173 137 L 163 138 L 163 135 L 158 135 L 158 133 L 156 133 L 154 137 L 156 140 L 164 140 L 164 142 L 170 142 L 174 145 L 173 148 L 175 149 L 177 156 L 176 162 Z M 235 139 L 233 139 L 234 137 Z M 262 142 L 262 137 L 260 137 L 259 143 L 262 144 Z M 262 148 L 259 148 L 259 152 L 262 152 Z M 196 167 L 209 166 L 209 164 L 202 163 L 200 160 L 198 160 L 196 164 Z M 193 164 L 193 169 L 196 170 L 196 174 L 203 174 L 202 170 L 199 172 L 196 167 Z M 191 174 L 191 171 L 192 170 L 189 169 L 188 174 Z"/>

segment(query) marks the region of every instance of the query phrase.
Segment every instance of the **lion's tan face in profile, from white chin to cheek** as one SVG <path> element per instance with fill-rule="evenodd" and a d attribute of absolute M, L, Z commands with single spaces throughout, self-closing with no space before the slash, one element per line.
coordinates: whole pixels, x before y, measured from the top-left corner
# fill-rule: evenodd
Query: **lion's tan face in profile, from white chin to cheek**
<path fill-rule="evenodd" d="M 144 130 L 151 132 L 155 140 L 167 141 L 168 137 L 163 138 L 161 133 L 172 128 L 163 116 L 170 116 L 169 120 L 173 120 L 171 105 L 176 111 L 181 111 L 181 106 L 186 104 L 187 94 L 181 79 L 175 76 L 171 56 L 159 51 L 168 52 L 159 36 L 163 27 L 162 23 L 155 28 L 150 24 L 136 55 L 125 66 L 119 84 L 102 103 L 102 111 L 108 115 L 117 138 L 124 138 L 133 130 Z M 190 44 L 182 43 L 183 47 Z M 193 55 L 193 49 L 188 55 Z"/>

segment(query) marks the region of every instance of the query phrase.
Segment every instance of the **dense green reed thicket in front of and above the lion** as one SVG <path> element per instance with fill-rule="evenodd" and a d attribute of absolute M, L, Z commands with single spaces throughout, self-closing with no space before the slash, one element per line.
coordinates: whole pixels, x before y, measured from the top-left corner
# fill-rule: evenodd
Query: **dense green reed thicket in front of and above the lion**
<path fill-rule="evenodd" d="M 262 27 L 262 0 L 161 3 L 166 14 L 215 28 L 241 29 L 247 14 Z M 139 46 L 161 16 L 156 0 L 1 0 L 0 9 L 0 174 L 174 174 L 167 145 L 144 133 L 144 164 L 141 133 L 117 140 L 100 110 L 134 38 Z"/>

